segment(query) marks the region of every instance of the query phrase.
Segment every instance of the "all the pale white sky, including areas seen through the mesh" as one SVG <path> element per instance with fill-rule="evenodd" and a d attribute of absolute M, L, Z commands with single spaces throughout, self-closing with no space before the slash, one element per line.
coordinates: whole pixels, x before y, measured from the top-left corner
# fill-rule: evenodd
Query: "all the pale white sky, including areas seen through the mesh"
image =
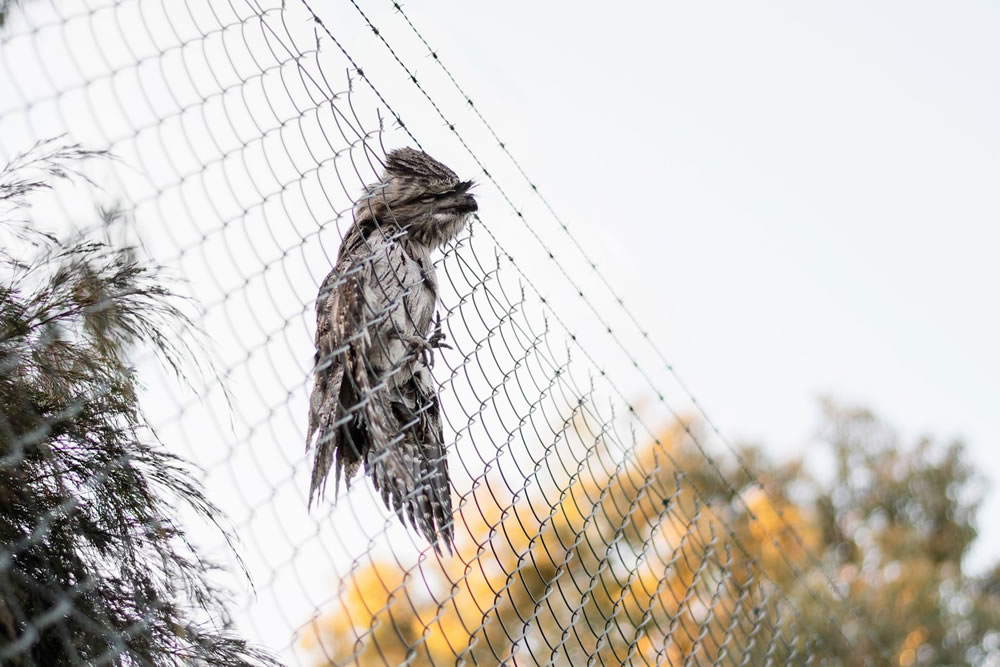
<path fill-rule="evenodd" d="M 170 401 L 157 407 L 244 532 L 259 591 L 251 623 L 280 646 L 329 603 L 333 584 L 322 582 L 345 558 L 376 544 L 368 539 L 405 536 L 384 518 L 366 525 L 377 503 L 365 488 L 333 517 L 302 507 L 311 301 L 345 224 L 333 220 L 364 175 L 340 185 L 332 158 L 315 169 L 339 148 L 336 137 L 320 141 L 331 118 L 299 115 L 312 89 L 286 69 L 255 78 L 282 56 L 251 23 L 196 39 L 216 21 L 197 3 L 185 3 L 187 18 L 172 5 L 172 21 L 147 0 L 89 0 L 94 11 L 82 15 L 56 4 L 62 28 L 0 54 L 0 156 L 59 132 L 114 144 L 114 177 L 139 202 L 153 254 L 209 304 L 206 328 L 233 369 L 235 432 L 199 417 L 205 406 L 186 406 L 181 419 Z M 671 407 L 693 410 L 392 3 L 359 6 L 471 152 L 350 3 L 310 4 L 385 96 L 356 82 L 363 125 L 376 109 L 389 117 L 388 103 L 429 152 L 476 178 L 482 224 L 594 365 L 630 400 L 652 395 L 648 377 Z M 231 23 L 252 3 L 211 6 Z M 287 7 L 285 42 L 312 48 L 302 7 Z M 1000 480 L 1000 6 L 424 0 L 405 10 L 727 438 L 798 452 L 817 397 L 831 395 L 908 434 L 965 439 Z M 322 65 L 341 90 L 348 63 L 321 38 L 305 67 Z M 411 141 L 391 128 L 385 140 Z M 490 260 L 488 241 L 473 230 L 466 248 L 479 244 Z M 483 372 L 475 382 L 491 382 Z M 449 403 L 457 383 L 444 401 L 460 415 Z M 470 430 L 453 457 L 466 460 L 470 446 L 482 455 L 488 436 Z M 994 493 L 974 564 L 1000 558 L 998 511 Z"/>

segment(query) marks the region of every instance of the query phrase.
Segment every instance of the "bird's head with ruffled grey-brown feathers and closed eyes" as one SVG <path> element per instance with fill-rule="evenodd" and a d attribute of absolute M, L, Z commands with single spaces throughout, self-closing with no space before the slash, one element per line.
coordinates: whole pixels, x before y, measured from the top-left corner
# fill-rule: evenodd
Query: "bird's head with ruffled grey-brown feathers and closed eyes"
<path fill-rule="evenodd" d="M 417 243 L 437 247 L 453 239 L 469 216 L 479 210 L 469 193 L 472 181 L 461 181 L 427 153 L 400 148 L 386 156 L 382 180 L 354 207 L 355 220 L 395 223 Z"/>

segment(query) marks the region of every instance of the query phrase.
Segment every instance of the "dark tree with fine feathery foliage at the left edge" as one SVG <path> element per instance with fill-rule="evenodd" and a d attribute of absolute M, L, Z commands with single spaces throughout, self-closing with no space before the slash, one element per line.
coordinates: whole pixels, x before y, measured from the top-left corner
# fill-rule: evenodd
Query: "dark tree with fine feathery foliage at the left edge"
<path fill-rule="evenodd" d="M 0 170 L 0 663 L 274 664 L 228 631 L 176 519 L 222 517 L 140 411 L 128 359 L 180 372 L 176 298 L 130 251 L 19 218 L 94 155 L 45 143 Z"/>

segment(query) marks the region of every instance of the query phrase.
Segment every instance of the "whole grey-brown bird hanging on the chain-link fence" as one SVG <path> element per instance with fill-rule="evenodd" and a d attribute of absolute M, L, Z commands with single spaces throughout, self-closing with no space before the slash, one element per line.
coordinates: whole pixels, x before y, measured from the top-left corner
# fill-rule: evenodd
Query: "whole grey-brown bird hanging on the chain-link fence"
<path fill-rule="evenodd" d="M 315 384 L 306 446 L 309 501 L 330 469 L 362 464 L 386 506 L 435 549 L 454 540 L 440 404 L 430 372 L 437 281 L 431 252 L 477 209 L 472 183 L 412 148 L 392 151 L 367 186 L 316 301 Z"/>

